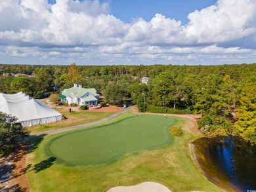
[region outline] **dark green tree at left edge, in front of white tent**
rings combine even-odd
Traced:
[[[18,144],[17,139],[29,135],[28,130],[16,121],[16,117],[0,111],[0,156],[12,153]]]

